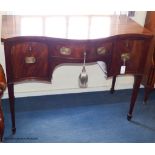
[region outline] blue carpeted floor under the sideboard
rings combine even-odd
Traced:
[[[131,90],[16,98],[16,134],[3,99],[4,143],[153,143],[155,93],[143,105],[140,90],[127,121]]]

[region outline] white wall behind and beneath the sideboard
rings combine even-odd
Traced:
[[[134,20],[141,25],[144,24],[146,12],[136,12]],[[0,12],[1,25],[2,12]],[[1,31],[1,30],[0,30]],[[0,44],[0,63],[5,70],[4,49]],[[105,79],[104,74],[97,64],[89,64],[86,69],[89,76],[88,88],[80,89],[78,86],[78,76],[81,72],[80,65],[64,65],[55,69],[52,84],[45,83],[24,83],[15,85],[15,96],[37,96],[46,94],[75,93],[109,90],[111,79]],[[133,86],[133,76],[124,76],[117,78],[116,89],[127,89]],[[3,98],[8,97],[7,90]]]

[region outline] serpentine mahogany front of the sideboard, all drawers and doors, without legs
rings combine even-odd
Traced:
[[[143,74],[148,50],[148,38],[143,36],[116,36],[93,40],[23,37],[12,38],[6,44],[13,67],[14,81],[26,78],[48,79],[55,66],[62,63],[86,63],[104,61],[108,76]],[[10,71],[9,70],[9,71]],[[10,71],[10,74],[12,71]]]

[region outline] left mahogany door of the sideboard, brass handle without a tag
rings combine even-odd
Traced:
[[[11,61],[14,82],[26,79],[46,80],[48,47],[40,42],[22,42],[12,46]]]

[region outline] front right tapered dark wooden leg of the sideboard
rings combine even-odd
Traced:
[[[130,101],[130,108],[129,108],[129,112],[128,112],[128,115],[127,115],[127,119],[129,121],[132,118],[132,112],[133,112],[135,102],[136,102],[136,99],[137,99],[137,95],[138,95],[141,80],[142,80],[142,76],[140,76],[140,75],[135,76],[132,95],[131,95],[131,101]]]

